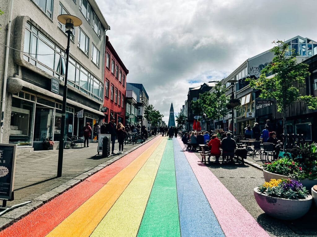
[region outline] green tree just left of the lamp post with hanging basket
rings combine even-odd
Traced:
[[[229,112],[227,108],[229,96],[226,96],[226,91],[228,89],[221,81],[217,82],[215,85],[215,91],[211,93],[212,97],[212,114],[211,118],[220,120],[221,117],[226,116]]]

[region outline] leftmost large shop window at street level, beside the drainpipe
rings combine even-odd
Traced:
[[[34,102],[12,97],[9,143],[31,146]]]

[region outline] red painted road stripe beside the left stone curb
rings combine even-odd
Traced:
[[[152,139],[140,148],[125,155],[120,160],[115,161],[85,181],[44,204],[28,216],[1,231],[0,237],[40,237],[47,235],[158,139],[159,137]]]

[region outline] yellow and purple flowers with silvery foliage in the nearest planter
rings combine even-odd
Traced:
[[[258,186],[258,191],[271,197],[282,197],[292,200],[306,198],[306,187],[293,179],[271,179]]]

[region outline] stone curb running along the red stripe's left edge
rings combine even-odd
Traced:
[[[159,136],[159,135],[157,135],[157,136]],[[26,204],[26,205],[21,206],[21,207],[17,207],[13,210],[6,212],[5,214],[3,214],[0,217],[0,231],[9,227],[14,222],[20,220],[21,218],[28,215],[32,211],[36,210],[37,208],[39,208],[43,204],[49,202],[53,198],[61,195],[63,192],[67,191],[68,189],[81,183],[83,180],[87,179],[88,177],[92,176],[93,174],[97,173],[98,171],[102,170],[103,168],[111,165],[113,162],[119,160],[121,157],[129,154],[130,152],[134,151],[135,149],[138,149],[140,146],[148,143],[149,141],[151,141],[152,139],[154,139],[157,136],[148,138],[144,143],[140,143],[139,145],[129,149],[125,153],[117,155],[116,157],[113,157],[112,159],[110,159],[110,160],[108,160],[100,165],[97,165],[96,167],[92,168],[91,170],[88,170],[88,171],[74,177],[73,179],[68,180],[64,184],[61,184],[61,185],[53,188],[52,190],[50,190],[50,191],[48,191],[48,192],[46,192],[38,197],[33,198],[31,203]]]

